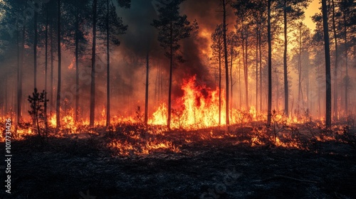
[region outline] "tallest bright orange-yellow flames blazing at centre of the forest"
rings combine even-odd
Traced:
[[[196,77],[184,80],[183,97],[177,99],[172,109],[172,128],[199,129],[219,125],[219,88],[211,90],[205,85],[198,85]],[[224,90],[221,90],[221,124],[226,124]],[[167,106],[161,104],[152,114],[150,124],[167,124]]]

